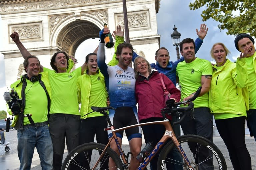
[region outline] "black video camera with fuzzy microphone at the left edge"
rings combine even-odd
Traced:
[[[12,88],[11,92],[4,92],[4,99],[8,103],[9,109],[11,109],[13,115],[21,113],[22,100],[18,93]]]

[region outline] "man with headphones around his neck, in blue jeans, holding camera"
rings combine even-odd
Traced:
[[[28,56],[24,62],[27,74],[11,85],[22,99],[21,113],[14,117],[12,126],[17,131],[20,169],[30,169],[35,147],[40,157],[42,170],[53,170],[53,145],[48,127],[50,89],[47,73],[39,74],[40,62]],[[12,113],[9,113],[12,114]],[[26,114],[32,114],[29,121]]]

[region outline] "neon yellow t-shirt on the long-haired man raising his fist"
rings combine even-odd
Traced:
[[[48,72],[51,86],[51,113],[65,113],[80,115],[76,83],[81,76],[81,67],[71,73],[56,73],[44,67],[44,72]]]

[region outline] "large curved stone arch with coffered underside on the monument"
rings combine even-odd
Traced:
[[[75,15],[67,16],[50,32],[51,46],[74,56],[83,41],[99,37],[101,28],[103,22],[90,15],[81,14],[80,19]]]

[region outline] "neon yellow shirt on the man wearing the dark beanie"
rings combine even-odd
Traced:
[[[253,56],[245,58],[247,65],[247,74],[248,74],[248,89],[249,89],[249,108],[256,109],[256,76],[253,66]]]

